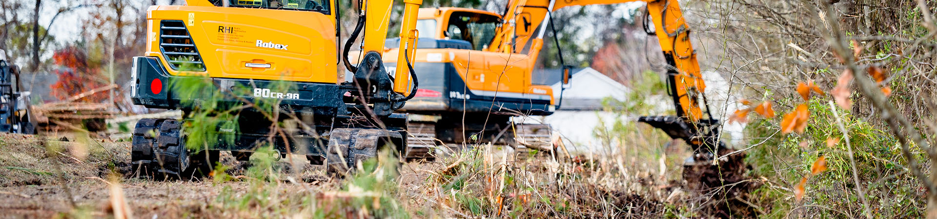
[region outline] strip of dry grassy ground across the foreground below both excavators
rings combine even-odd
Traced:
[[[84,159],[73,154],[88,143],[98,149],[87,147]],[[701,216],[700,208],[711,208],[679,189],[682,158],[676,157],[685,152],[677,147],[626,155],[656,145],[630,143],[625,146],[638,148],[572,158],[480,146],[439,162],[405,164],[397,177],[388,171],[393,162],[368,163],[370,171],[344,180],[289,159],[255,159],[250,168],[223,159],[228,168],[214,179],[190,181],[130,178],[127,142],[38,145],[35,137],[0,136],[0,165],[10,167],[0,169],[0,210],[7,216],[660,218]],[[117,180],[120,189],[102,179]],[[113,207],[116,195],[126,207]]]

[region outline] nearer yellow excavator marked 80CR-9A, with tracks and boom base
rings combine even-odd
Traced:
[[[382,63],[389,58],[382,51],[393,0],[357,5],[358,25],[346,45],[364,35],[364,61],[358,66],[339,65],[341,10],[335,0],[186,2],[148,9],[146,50],[133,59],[133,102],[184,112],[183,120],[136,124],[131,159],[138,175],[185,176],[215,164],[219,151],[246,160],[267,145],[282,156],[306,155],[312,164],[342,173],[383,147],[396,152],[406,147],[407,117],[394,110],[416,94],[417,79],[409,65],[397,66],[392,76]],[[409,64],[423,1],[404,3],[403,40],[395,46],[405,52],[389,60]],[[339,81],[339,67],[353,72],[353,79]],[[213,90],[182,87],[192,77],[208,78]],[[218,91],[224,94],[218,106],[243,109],[230,112],[236,125],[214,131],[218,139],[234,140],[186,147],[189,115]],[[260,100],[275,104],[258,107],[254,103]]]

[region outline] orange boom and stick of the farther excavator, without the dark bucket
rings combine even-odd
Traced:
[[[550,13],[563,7],[609,5],[628,2],[647,2],[647,12],[654,23],[658,41],[667,60],[668,80],[677,108],[677,116],[688,122],[703,119],[699,99],[706,90],[699,64],[690,41],[690,27],[683,18],[677,0],[512,0],[498,29],[495,45],[489,51],[522,52],[531,42],[527,53],[536,59],[543,46],[543,34],[550,22]],[[535,28],[538,28],[535,31]]]

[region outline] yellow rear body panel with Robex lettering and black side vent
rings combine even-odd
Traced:
[[[199,3],[205,0],[190,0]],[[191,4],[196,5],[196,4]],[[159,47],[162,20],[186,23],[212,78],[290,80],[336,83],[337,49],[335,14],[315,11],[245,7],[154,6],[147,14],[146,56],[162,56]],[[286,45],[283,49],[264,47]],[[269,64],[251,67],[247,64]],[[171,74],[181,74],[164,62]]]

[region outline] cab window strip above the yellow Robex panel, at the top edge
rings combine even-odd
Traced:
[[[329,14],[332,10],[329,0],[210,0],[216,7],[223,7],[228,1],[230,7],[255,7],[282,10],[309,10]]]

